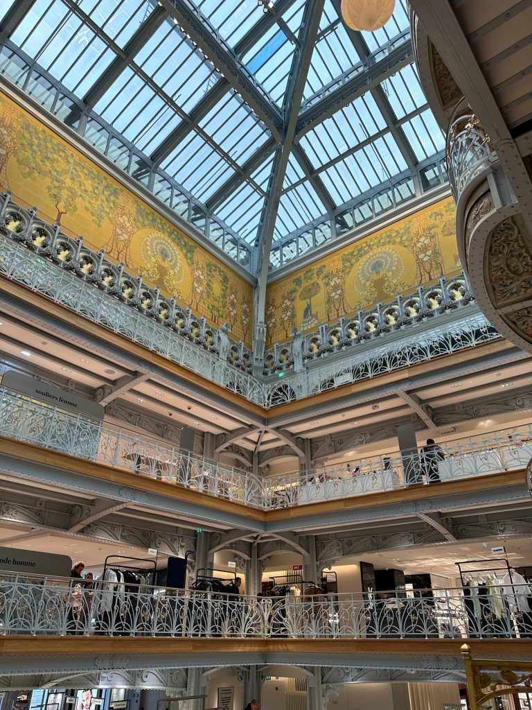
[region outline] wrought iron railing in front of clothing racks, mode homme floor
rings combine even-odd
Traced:
[[[528,585],[254,597],[0,573],[0,634],[530,638]],[[528,608],[528,606],[527,606]]]

